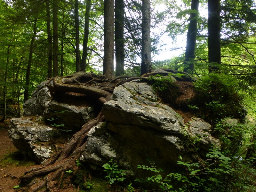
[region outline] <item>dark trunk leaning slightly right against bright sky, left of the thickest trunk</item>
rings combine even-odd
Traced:
[[[188,25],[187,45],[185,52],[185,61],[183,71],[186,73],[193,73],[194,59],[196,50],[196,35],[197,35],[197,16],[198,16],[199,0],[191,0],[191,10],[196,13],[190,14],[190,21]]]

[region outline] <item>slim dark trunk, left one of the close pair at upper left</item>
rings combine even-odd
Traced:
[[[51,14],[50,1],[46,1],[46,16],[47,16],[47,39],[48,39],[48,71],[47,77],[52,77],[52,29],[51,29]]]

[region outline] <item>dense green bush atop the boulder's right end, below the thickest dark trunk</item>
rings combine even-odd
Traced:
[[[204,112],[210,122],[225,117],[243,120],[246,110],[241,104],[241,98],[235,91],[234,77],[224,73],[211,73],[194,83],[197,91],[196,102],[205,108]]]

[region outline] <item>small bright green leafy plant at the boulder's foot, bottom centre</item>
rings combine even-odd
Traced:
[[[108,180],[109,184],[113,184],[116,181],[120,182],[125,180],[125,170],[119,169],[118,165],[113,163],[113,159],[109,161],[109,164],[106,163],[102,167],[104,167],[104,171],[107,172],[107,176],[105,178]]]

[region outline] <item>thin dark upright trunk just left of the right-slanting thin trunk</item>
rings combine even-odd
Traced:
[[[81,70],[80,66],[80,41],[79,41],[79,1],[75,0],[75,29],[76,29],[76,72]]]

